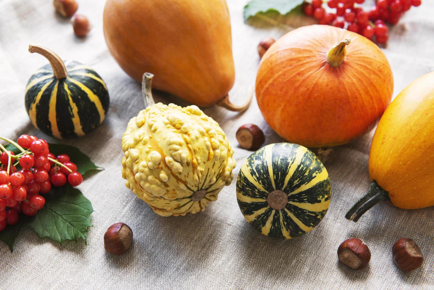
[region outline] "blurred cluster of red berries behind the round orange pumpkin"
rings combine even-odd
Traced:
[[[377,43],[386,43],[389,39],[386,22],[396,24],[402,14],[411,6],[421,5],[421,0],[377,0],[369,11],[356,7],[365,0],[328,0],[324,1],[335,13],[326,12],[323,0],[312,0],[303,3],[303,10],[307,16],[319,20],[319,24],[333,25],[359,33],[372,40],[375,36]],[[327,10],[330,10],[327,8]]]

